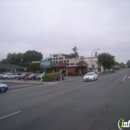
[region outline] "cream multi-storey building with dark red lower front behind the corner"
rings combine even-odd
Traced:
[[[66,58],[63,54],[51,54],[47,60],[52,60],[51,72],[60,72],[66,69],[66,74],[81,75],[87,72],[87,63],[83,56]]]

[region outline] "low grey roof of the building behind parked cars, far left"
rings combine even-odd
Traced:
[[[24,67],[14,64],[0,64],[0,69],[24,69]]]

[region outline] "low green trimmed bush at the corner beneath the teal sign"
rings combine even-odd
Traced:
[[[43,82],[51,82],[54,77],[56,78],[56,81],[59,80],[60,79],[60,73],[48,73],[48,74],[45,74],[42,81]]]

